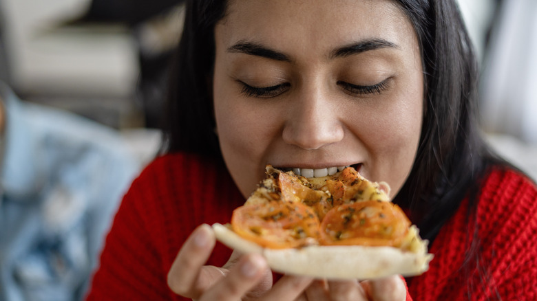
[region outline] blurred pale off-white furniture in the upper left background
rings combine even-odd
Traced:
[[[126,97],[138,77],[136,45],[120,26],[63,28],[85,0],[1,0],[12,85],[24,94]]]

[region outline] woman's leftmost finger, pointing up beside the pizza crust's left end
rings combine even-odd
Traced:
[[[215,236],[211,226],[200,225],[192,232],[168,272],[168,286],[174,293],[187,298],[198,298],[200,287],[207,287],[206,282],[213,280],[208,276],[217,272],[206,271],[200,275],[214,245]]]

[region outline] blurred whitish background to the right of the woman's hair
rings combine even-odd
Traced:
[[[481,63],[489,143],[537,179],[537,1],[459,0]]]

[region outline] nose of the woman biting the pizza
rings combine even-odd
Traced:
[[[287,110],[284,142],[315,150],[343,140],[344,129],[337,104],[318,89],[300,93]]]

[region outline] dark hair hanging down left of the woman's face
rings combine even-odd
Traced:
[[[173,60],[161,153],[186,151],[221,158],[213,118],[214,27],[223,0],[187,0],[185,25]]]

